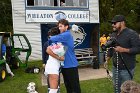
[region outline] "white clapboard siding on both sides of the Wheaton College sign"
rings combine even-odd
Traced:
[[[27,36],[32,46],[30,60],[42,59],[41,31],[39,23],[25,23],[25,0],[11,0],[14,33]],[[90,23],[99,23],[98,0],[89,0]]]

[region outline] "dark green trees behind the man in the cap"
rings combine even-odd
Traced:
[[[112,31],[108,21],[117,14],[124,15],[127,20],[127,27],[140,33],[140,0],[99,0],[99,5],[101,34],[104,31],[106,33]]]

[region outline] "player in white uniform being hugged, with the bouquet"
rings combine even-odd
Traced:
[[[58,34],[58,29],[56,27],[51,29],[51,35]],[[45,65],[44,74],[48,76],[50,91],[49,93],[57,93],[58,91],[58,81],[59,81],[59,69],[60,65],[63,63],[60,60],[64,60],[64,46],[60,43],[52,43],[48,46],[47,50],[50,49],[54,54],[58,55],[58,59],[49,55],[47,63]]]

